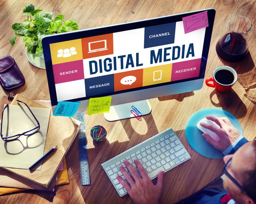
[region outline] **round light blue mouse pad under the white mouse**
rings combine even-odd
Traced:
[[[206,118],[207,115],[212,115],[215,117],[227,117],[231,124],[238,129],[241,135],[243,135],[243,130],[239,121],[231,115],[229,112],[218,109],[218,108],[205,108],[198,112],[195,112],[186,124],[185,134],[189,145],[199,154],[213,159],[223,158],[224,155],[221,151],[215,149],[210,145],[202,136],[203,132],[198,129],[197,124],[201,119]]]

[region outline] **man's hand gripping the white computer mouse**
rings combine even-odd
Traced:
[[[230,147],[230,145],[233,144],[237,140],[237,138],[239,138],[239,131],[231,124],[228,118],[217,118],[215,116],[209,115],[207,115],[206,118],[207,120],[211,120],[215,122],[218,126],[220,126],[220,128],[217,128],[215,126],[205,123],[200,124],[204,128],[215,132],[219,136],[219,141],[215,141],[208,134],[203,134],[203,137],[206,139],[206,141],[209,142],[209,144],[211,144],[213,147],[215,147],[215,149],[223,152],[225,149]]]

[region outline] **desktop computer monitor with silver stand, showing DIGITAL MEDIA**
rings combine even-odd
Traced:
[[[147,114],[144,100],[201,89],[214,18],[206,9],[44,37],[52,108],[81,101],[84,111],[112,96],[111,121],[133,116],[132,104]]]

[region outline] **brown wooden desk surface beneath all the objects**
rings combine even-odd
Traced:
[[[256,103],[256,35],[254,34],[256,4],[254,0],[0,0],[0,57],[10,54],[15,58],[26,79],[26,84],[14,91],[32,100],[49,100],[46,71],[30,64],[25,55],[24,43],[17,38],[12,47],[9,39],[13,35],[13,23],[22,22],[23,7],[32,3],[36,9],[61,13],[64,18],[78,22],[80,29],[106,26],[116,23],[143,20],[177,14],[186,11],[214,8],[215,24],[212,33],[205,78],[212,77],[212,71],[221,65],[236,69],[238,82],[233,90],[218,93],[203,86],[199,91],[149,100],[152,112],[143,116],[143,121],[126,119],[116,122],[105,121],[102,114],[86,115],[86,133],[100,124],[108,131],[107,140],[93,143],[88,136],[90,186],[81,186],[78,141],[74,141],[67,153],[67,167],[70,184],[56,187],[55,193],[29,190],[24,193],[4,195],[0,203],[131,203],[126,195],[118,196],[100,164],[119,153],[172,127],[184,144],[191,159],[164,175],[162,203],[175,203],[195,193],[221,175],[221,159],[208,159],[196,153],[187,143],[185,126],[189,117],[206,107],[218,107],[233,114],[243,127],[244,136],[255,137]],[[229,17],[244,14],[253,23],[249,33],[249,51],[241,63],[227,63],[218,58],[215,44],[224,32]],[[0,89],[0,97],[9,95]]]

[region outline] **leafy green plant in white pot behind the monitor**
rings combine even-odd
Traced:
[[[26,16],[24,22],[12,25],[15,35],[10,39],[11,45],[15,45],[16,37],[22,36],[29,62],[42,69],[45,69],[42,38],[47,35],[79,29],[75,21],[64,21],[62,14],[58,14],[52,19],[52,14],[51,11],[42,13],[42,10],[35,9],[32,4],[28,4],[23,9],[22,15]]]

